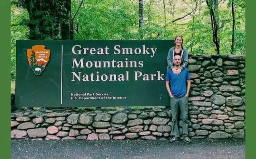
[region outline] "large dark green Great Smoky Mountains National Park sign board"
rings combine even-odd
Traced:
[[[16,106],[166,106],[173,40],[18,40]]]

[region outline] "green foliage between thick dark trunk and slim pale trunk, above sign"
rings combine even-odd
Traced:
[[[72,4],[72,14],[80,5],[80,1]],[[138,16],[127,0],[90,0],[79,9],[73,24],[78,25],[75,31],[77,40],[112,40],[137,39]]]

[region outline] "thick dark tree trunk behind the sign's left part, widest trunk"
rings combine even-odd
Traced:
[[[71,39],[71,0],[25,0],[21,1],[29,14],[30,40]],[[65,11],[65,8],[67,9]],[[70,14],[70,15],[69,15]]]

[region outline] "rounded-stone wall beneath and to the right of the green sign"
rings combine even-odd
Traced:
[[[244,139],[245,56],[189,55],[188,69],[189,136]],[[11,138],[165,140],[172,130],[169,108],[16,110],[11,112]]]

